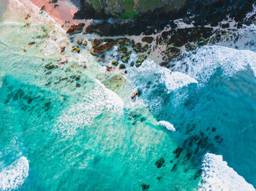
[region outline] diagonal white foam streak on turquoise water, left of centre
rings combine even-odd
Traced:
[[[59,117],[55,124],[56,133],[65,136],[74,135],[77,130],[90,125],[95,117],[102,114],[103,110],[122,114],[124,102],[113,91],[108,90],[99,80],[95,79],[94,90],[86,95],[84,101],[75,104]]]

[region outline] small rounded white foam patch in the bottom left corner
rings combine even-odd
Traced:
[[[20,157],[0,172],[0,190],[18,189],[29,176],[29,161]]]

